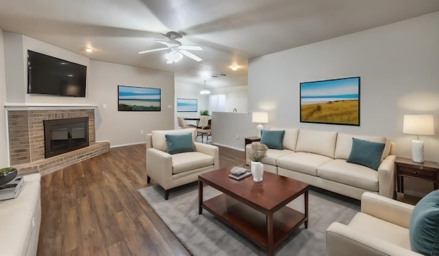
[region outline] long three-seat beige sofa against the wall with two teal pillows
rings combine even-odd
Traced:
[[[358,200],[365,191],[388,198],[394,196],[395,144],[385,137],[297,128],[270,130],[285,130],[285,135],[283,150],[268,150],[262,161],[265,171]],[[385,143],[377,171],[364,165],[346,162],[351,152],[353,137]],[[250,163],[251,151],[249,144],[246,146],[247,164]]]

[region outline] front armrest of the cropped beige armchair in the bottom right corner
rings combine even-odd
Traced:
[[[333,222],[326,232],[327,256],[420,254],[371,235],[361,233],[344,224]]]

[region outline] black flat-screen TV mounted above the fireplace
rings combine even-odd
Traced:
[[[27,93],[85,97],[87,67],[27,50]]]

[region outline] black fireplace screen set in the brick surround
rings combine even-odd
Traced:
[[[88,146],[88,117],[43,122],[45,158]]]

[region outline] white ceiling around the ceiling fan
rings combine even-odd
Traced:
[[[439,0],[0,0],[0,28],[213,89],[247,85],[249,58],[437,11]],[[167,51],[137,54],[163,47],[154,39],[169,31],[201,45],[193,53],[203,60],[168,65]]]

